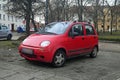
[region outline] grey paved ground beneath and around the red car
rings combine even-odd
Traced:
[[[120,44],[100,42],[98,57],[78,57],[61,68],[29,62],[17,49],[0,49],[0,80],[120,80]]]

